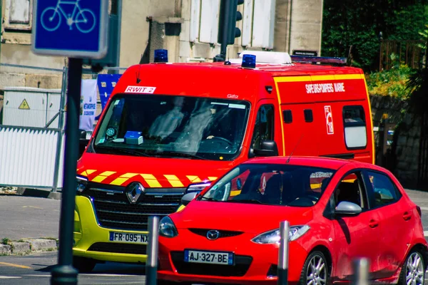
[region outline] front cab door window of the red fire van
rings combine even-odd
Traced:
[[[262,105],[257,113],[251,147],[260,149],[263,140],[273,140],[273,105]]]

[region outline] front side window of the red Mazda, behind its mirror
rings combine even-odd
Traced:
[[[360,172],[352,172],[342,177],[334,192],[335,207],[340,202],[352,202],[363,210],[368,209],[367,195],[365,192],[362,175]]]

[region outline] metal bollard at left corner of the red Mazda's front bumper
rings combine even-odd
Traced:
[[[158,236],[159,218],[148,217],[148,244],[146,261],[146,285],[156,285],[156,271],[158,270]]]

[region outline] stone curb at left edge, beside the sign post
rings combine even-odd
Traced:
[[[53,252],[58,249],[58,239],[21,239],[0,244],[1,255],[29,254],[33,252]]]

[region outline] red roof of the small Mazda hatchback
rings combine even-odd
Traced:
[[[287,160],[290,158],[290,161]],[[342,160],[339,158],[331,157],[309,157],[309,156],[293,156],[293,157],[257,157],[247,160],[243,164],[288,164],[288,165],[305,165],[310,167],[329,168],[331,170],[338,170],[346,164],[366,165],[366,163],[356,162],[353,160]],[[370,164],[367,164],[370,165]]]

